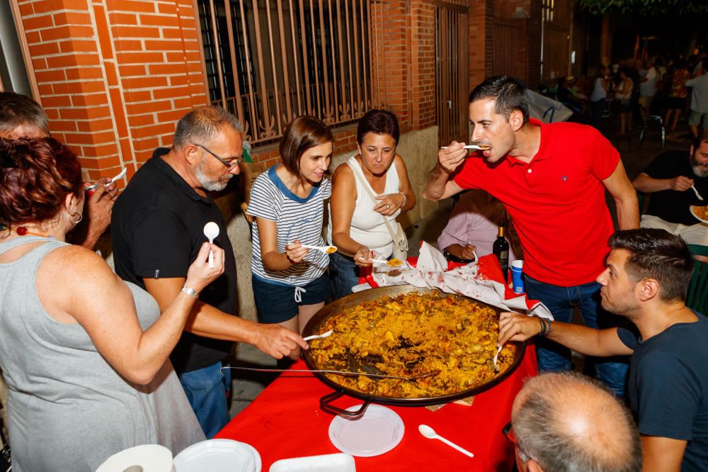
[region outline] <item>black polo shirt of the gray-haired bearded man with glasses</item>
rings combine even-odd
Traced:
[[[208,196],[196,193],[161,155],[158,148],[130,179],[113,206],[110,230],[115,273],[145,288],[143,278],[186,277],[203,242],[204,225],[219,225],[215,244],[224,249],[224,274],[202,290],[199,299],[236,313],[236,259],[224,215]],[[170,359],[178,373],[223,360],[232,342],[183,332]]]

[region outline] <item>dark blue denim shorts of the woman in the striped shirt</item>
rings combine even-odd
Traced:
[[[322,274],[302,287],[276,285],[251,276],[258,321],[281,323],[297,316],[300,305],[316,305],[329,300],[329,277]],[[296,293],[297,289],[297,293]],[[296,300],[297,297],[297,300]],[[299,301],[298,301],[299,300]]]

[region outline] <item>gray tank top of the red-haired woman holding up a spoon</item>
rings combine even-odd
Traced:
[[[0,254],[37,241],[45,244],[0,264],[0,369],[9,390],[13,471],[94,471],[112,454],[139,444],[161,444],[176,455],[204,440],[169,361],[149,385],[130,383],[97,352],[81,325],[59,322],[42,307],[38,267],[67,243],[20,237],[0,242]],[[159,306],[146,291],[128,286],[146,330],[159,318]]]

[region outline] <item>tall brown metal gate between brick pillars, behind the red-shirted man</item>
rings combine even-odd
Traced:
[[[469,139],[467,7],[435,2],[435,106],[438,138]]]

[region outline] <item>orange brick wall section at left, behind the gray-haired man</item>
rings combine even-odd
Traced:
[[[19,2],[50,130],[87,176],[128,178],[206,101],[191,0]]]

